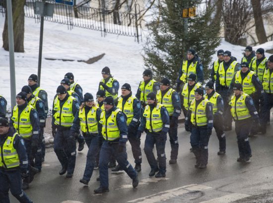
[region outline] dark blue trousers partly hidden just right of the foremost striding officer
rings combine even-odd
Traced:
[[[140,149],[140,138],[136,138],[137,127],[132,130],[132,132],[128,132],[128,141],[131,144],[133,156],[135,158],[135,163],[140,165],[142,162],[142,154]]]

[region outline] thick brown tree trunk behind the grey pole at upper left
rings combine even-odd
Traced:
[[[14,51],[24,52],[24,5],[26,0],[12,0],[13,40]],[[5,24],[2,33],[3,48],[8,51],[7,12],[5,13]]]

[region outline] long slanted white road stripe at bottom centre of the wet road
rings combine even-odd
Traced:
[[[132,187],[132,186],[131,186]],[[175,198],[179,195],[183,195],[186,193],[189,193],[190,191],[196,191],[196,190],[205,190],[205,189],[211,189],[211,187],[205,186],[205,185],[197,185],[197,184],[191,184],[186,185],[179,188],[174,188],[171,190],[166,190],[160,193],[156,193],[153,195],[149,195],[143,198],[138,198],[135,200],[129,201],[129,203],[157,203],[162,201],[167,201],[171,198]]]

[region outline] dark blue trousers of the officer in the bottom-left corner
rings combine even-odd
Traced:
[[[20,203],[32,203],[22,190],[22,178],[19,169],[7,171],[0,169],[0,203],[9,203],[8,191]]]

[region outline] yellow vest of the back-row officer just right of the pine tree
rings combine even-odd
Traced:
[[[228,67],[228,69],[226,70],[226,72],[225,72],[223,62],[220,63],[219,70],[218,70],[220,85],[225,86],[225,87],[230,86],[232,78],[235,74],[235,66],[237,63],[238,63],[237,61],[233,61],[230,64],[230,66]]]

